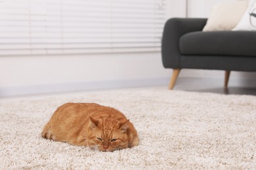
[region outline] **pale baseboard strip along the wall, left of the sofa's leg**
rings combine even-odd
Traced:
[[[61,84],[39,84],[33,86],[0,87],[0,97],[36,95],[45,93],[78,92],[87,90],[107,90],[114,88],[134,88],[142,86],[167,86],[169,77],[133,80],[102,80],[94,82],[70,82]]]

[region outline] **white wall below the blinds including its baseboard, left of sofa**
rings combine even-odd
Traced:
[[[0,58],[0,97],[167,84],[160,52]]]

